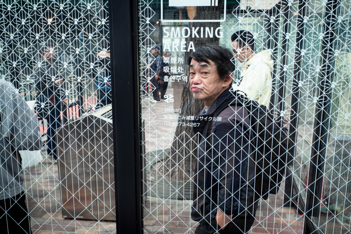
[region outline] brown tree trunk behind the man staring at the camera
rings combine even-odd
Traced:
[[[221,6],[221,1],[219,1]],[[219,19],[221,7],[197,7],[196,8],[196,19]],[[219,22],[191,22],[189,28],[192,27],[213,27],[213,32],[218,28]],[[199,29],[199,30],[200,30]],[[205,32],[205,29],[204,29]],[[219,38],[213,35],[212,38],[192,38],[188,37],[187,44],[193,41],[195,48],[204,46],[206,44],[219,44]],[[189,67],[187,61],[191,52],[186,53],[186,66],[185,75],[190,77]],[[199,115],[200,111],[204,108],[204,103],[200,100],[193,98],[190,90],[190,82],[184,84],[183,92],[181,94],[180,102],[180,116],[196,116]],[[190,123],[190,120],[179,120],[178,122]],[[177,181],[188,181],[194,174],[194,167],[197,156],[197,137],[194,137],[194,131],[189,126],[177,126],[174,140],[172,142],[170,150],[170,161],[164,162],[165,165],[169,165],[171,172],[171,178]]]

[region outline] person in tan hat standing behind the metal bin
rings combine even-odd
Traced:
[[[97,107],[112,103],[110,49],[107,43],[102,43],[102,49],[97,54],[95,61],[95,85],[97,90]]]

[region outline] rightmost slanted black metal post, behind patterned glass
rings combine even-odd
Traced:
[[[313,133],[313,146],[311,150],[309,179],[307,184],[306,197],[306,218],[318,217],[321,199],[321,188],[323,188],[323,171],[325,164],[325,153],[329,129],[329,112],[331,106],[331,83],[334,79],[332,69],[333,40],[336,25],[336,11],[338,0],[329,0],[326,5],[324,21],[324,37],[322,40],[322,69],[318,74],[321,80],[320,88],[323,90],[319,94]]]

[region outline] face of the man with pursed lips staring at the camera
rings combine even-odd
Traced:
[[[190,89],[195,99],[202,100],[209,106],[221,94],[227,84],[222,81],[217,72],[217,66],[212,60],[209,63],[191,60]]]

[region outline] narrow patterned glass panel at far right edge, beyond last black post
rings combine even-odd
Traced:
[[[350,230],[350,155],[351,155],[351,97],[350,97],[350,7],[342,1],[337,8],[333,42],[333,81],[331,82],[330,131],[325,156],[324,187],[318,227],[325,233]],[[322,214],[335,212],[333,217]]]

